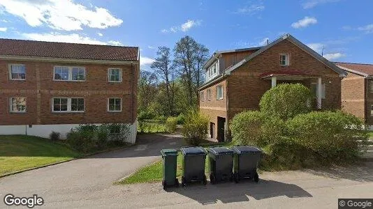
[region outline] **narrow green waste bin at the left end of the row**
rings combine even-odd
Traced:
[[[177,150],[175,149],[163,149],[161,150],[163,159],[163,189],[168,186],[179,186],[179,180],[176,178],[176,166],[177,166]]]

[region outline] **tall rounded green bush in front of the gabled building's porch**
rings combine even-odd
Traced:
[[[263,94],[259,107],[263,114],[287,120],[312,111],[314,99],[302,84],[279,84]]]

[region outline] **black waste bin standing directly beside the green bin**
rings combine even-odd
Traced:
[[[183,147],[182,152],[182,186],[193,181],[206,185],[205,160],[206,151],[202,147]]]

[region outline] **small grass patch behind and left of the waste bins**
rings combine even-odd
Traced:
[[[206,156],[207,158],[207,156]],[[205,173],[206,176],[208,172],[208,160],[205,160]],[[154,162],[153,164],[149,164],[146,167],[136,171],[128,178],[124,178],[121,180],[119,184],[134,184],[134,183],[149,183],[149,182],[160,182],[162,180],[163,170],[162,170],[162,160]],[[182,176],[182,155],[179,152],[177,156],[177,169],[176,169],[176,176],[181,180]],[[181,181],[180,181],[181,182]]]

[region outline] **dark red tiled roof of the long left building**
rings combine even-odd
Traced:
[[[138,47],[0,38],[0,55],[106,61],[138,61]]]

